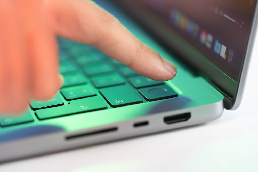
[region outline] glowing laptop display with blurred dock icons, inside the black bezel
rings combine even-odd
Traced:
[[[141,2],[238,82],[255,7],[254,0]]]

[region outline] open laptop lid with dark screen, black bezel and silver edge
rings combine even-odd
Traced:
[[[256,0],[114,0],[224,95],[241,102],[257,25]]]

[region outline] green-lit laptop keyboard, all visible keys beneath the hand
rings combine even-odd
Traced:
[[[65,80],[52,99],[29,102],[39,120],[177,96],[166,83],[141,76],[92,46],[60,37],[58,42],[59,70]],[[1,116],[0,126],[33,122],[34,114],[26,110],[17,117]]]

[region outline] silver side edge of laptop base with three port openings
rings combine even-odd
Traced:
[[[0,163],[201,124],[218,119],[223,111],[222,100],[74,132],[57,131],[6,141],[0,145]]]

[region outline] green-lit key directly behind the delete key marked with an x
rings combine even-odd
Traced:
[[[118,73],[108,73],[91,77],[91,81],[97,88],[124,84],[125,80]]]

